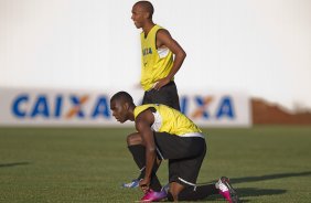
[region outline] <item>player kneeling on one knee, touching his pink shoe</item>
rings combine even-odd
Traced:
[[[182,113],[165,105],[136,106],[126,92],[115,94],[110,99],[112,116],[119,121],[135,121],[137,132],[128,137],[130,147],[138,147],[133,159],[138,167],[146,165],[143,179],[139,182],[144,195],[141,201],[197,201],[212,194],[222,194],[228,202],[238,202],[235,190],[223,177],[215,184],[196,185],[196,179],[206,153],[204,135]],[[169,160],[169,193],[154,191],[152,179],[157,178],[153,165],[157,157]]]

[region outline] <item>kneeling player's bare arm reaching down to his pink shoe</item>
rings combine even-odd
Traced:
[[[136,129],[141,136],[142,143],[146,147],[146,174],[139,183],[144,193],[149,190],[151,172],[154,164],[154,160],[157,158],[153,132],[150,127],[153,121],[154,117],[151,110],[149,109],[142,111],[136,119]]]

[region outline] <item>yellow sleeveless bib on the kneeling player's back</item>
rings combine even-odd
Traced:
[[[137,106],[133,110],[135,119],[148,108],[156,109],[156,113],[152,113],[154,116],[154,122],[151,126],[153,131],[184,137],[204,137],[201,129],[191,119],[165,105],[148,104]]]

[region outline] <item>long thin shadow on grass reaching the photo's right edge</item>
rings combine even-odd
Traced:
[[[232,183],[256,182],[256,181],[266,181],[266,180],[283,179],[291,177],[305,177],[305,175],[311,175],[311,171],[299,172],[299,173],[266,174],[260,177],[230,178],[230,182]]]

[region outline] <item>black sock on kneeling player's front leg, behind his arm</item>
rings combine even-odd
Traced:
[[[141,145],[129,146],[128,148],[138,168],[140,170],[142,169],[138,179],[143,179],[144,178],[143,168],[146,167],[146,149]],[[162,189],[161,183],[156,174],[158,169],[159,169],[159,164],[157,163],[156,160],[152,169],[151,181],[150,181],[150,188],[154,191],[160,191]]]

